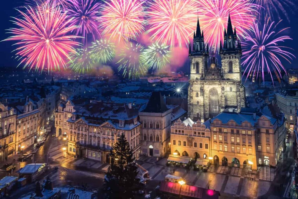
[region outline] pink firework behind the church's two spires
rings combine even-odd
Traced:
[[[214,52],[219,50],[229,14],[238,36],[243,36],[256,19],[254,14],[257,5],[250,3],[249,0],[198,0],[197,7],[201,30],[204,31],[204,41]]]

